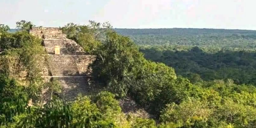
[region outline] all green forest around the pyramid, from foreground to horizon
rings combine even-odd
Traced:
[[[254,50],[240,51],[240,48],[253,46],[243,42],[253,42],[254,31],[230,30],[236,34],[230,35],[222,32],[226,30],[184,29],[170,34],[169,30],[161,29],[161,34],[153,31],[150,33],[157,36],[148,38],[149,35],[140,30],[139,34],[133,33],[134,37],[142,37],[136,40],[114,32],[109,23],[68,23],[60,27],[63,33],[96,56],[91,67],[94,80],[101,83],[101,90],[79,96],[73,102],[62,101],[54,95],[51,101],[41,104],[42,90],[50,87],[58,92],[58,83],[42,80],[40,67],[44,60],[38,55],[46,53],[41,40],[28,33],[31,27],[33,23],[21,20],[17,22],[19,30],[9,33],[8,26],[0,25],[0,128],[256,126]],[[211,37],[215,31],[219,36]],[[127,35],[124,32],[119,33]],[[187,35],[181,44],[163,45],[165,43],[159,41],[166,35],[169,41],[169,37],[178,41],[182,37],[179,33]],[[201,33],[208,36],[198,36]],[[195,44],[191,45],[187,39],[194,40]],[[203,41],[197,42],[198,39]],[[222,39],[227,41],[221,42]],[[230,44],[234,47],[228,47]],[[24,70],[28,73],[23,80],[18,79],[18,74]],[[124,114],[118,100],[127,97],[155,118]]]

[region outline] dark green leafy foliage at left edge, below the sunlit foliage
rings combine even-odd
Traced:
[[[27,106],[28,94],[26,88],[18,86],[14,79],[0,76],[0,126],[14,122],[18,114],[22,114]]]

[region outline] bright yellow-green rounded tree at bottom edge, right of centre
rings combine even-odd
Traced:
[[[162,111],[161,121],[165,123],[175,123],[179,126],[190,126],[195,122],[206,122],[213,110],[209,109],[206,102],[189,98],[180,105],[168,104]]]

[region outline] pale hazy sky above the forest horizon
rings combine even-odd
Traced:
[[[114,28],[256,30],[255,0],[0,0],[0,24],[59,27],[88,20]]]

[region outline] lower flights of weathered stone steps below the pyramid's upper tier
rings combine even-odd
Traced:
[[[83,55],[48,55],[48,62],[52,77],[54,77],[61,86],[59,96],[66,101],[73,100],[78,94],[86,95],[88,90],[88,81],[86,75],[80,74],[76,61]]]

